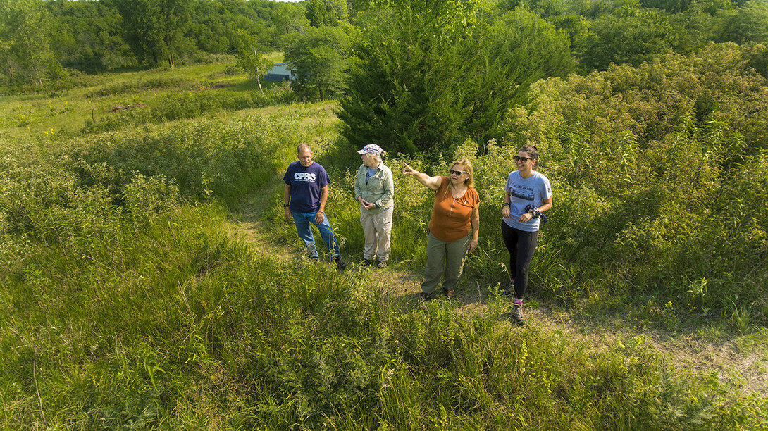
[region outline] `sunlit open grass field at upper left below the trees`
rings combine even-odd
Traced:
[[[273,53],[272,58],[280,58]],[[234,70],[233,73],[227,73]],[[146,123],[260,108],[285,98],[282,85],[256,80],[231,64],[88,75],[90,85],[51,94],[0,98],[0,127],[12,137],[115,131]]]

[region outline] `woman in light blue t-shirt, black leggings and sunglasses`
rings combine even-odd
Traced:
[[[544,211],[552,207],[552,187],[536,171],[538,148],[525,145],[515,156],[518,170],[511,171],[504,187],[507,192],[502,207],[502,238],[509,250],[509,286],[505,293],[514,295],[512,318],[523,324],[522,305],[528,287],[528,266],[538,242],[538,229]]]

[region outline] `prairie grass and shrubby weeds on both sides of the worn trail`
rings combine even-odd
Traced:
[[[0,421],[19,429],[766,426],[764,393],[738,378],[676,369],[644,337],[595,348],[535,318],[515,329],[497,290],[504,178],[516,147],[535,142],[555,207],[531,268],[529,307],[623,320],[640,333],[739,338],[763,352],[764,373],[768,85],[748,60],[718,45],[538,81],[532,103],[508,115],[503,141],[457,142],[437,161],[392,154],[393,171],[401,160],[434,174],[453,156],[475,161],[481,247],[459,295],[476,290],[485,304],[476,311],[394,294],[386,272],[339,273],[300,258],[273,187],[300,141],[313,142],[333,178],[328,214],[344,254],[362,249],[351,187],[359,158],[339,138],[333,102],[291,104],[280,88],[257,101],[253,82],[223,75],[224,65],[100,75],[98,85],[55,98],[6,96]],[[206,80],[235,84],[189,91]],[[152,114],[91,118],[94,104],[126,94]],[[12,120],[19,105],[62,99],[70,108]],[[253,194],[267,194],[257,234],[290,244],[295,258],[228,234]],[[429,194],[396,174],[399,264],[386,271],[418,274],[430,207]]]

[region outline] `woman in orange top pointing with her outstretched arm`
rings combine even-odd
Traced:
[[[424,267],[422,300],[429,299],[442,276],[442,288],[455,297],[467,254],[478,247],[480,197],[475,187],[472,163],[465,158],[453,162],[450,177],[430,177],[403,163],[402,173],[435,191],[432,218],[429,219],[427,264]]]

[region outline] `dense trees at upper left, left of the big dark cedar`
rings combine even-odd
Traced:
[[[303,4],[266,0],[2,0],[2,84],[41,85],[57,68],[94,73],[235,54],[239,31],[279,50],[308,26]]]

